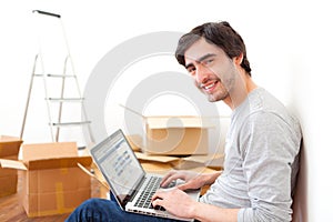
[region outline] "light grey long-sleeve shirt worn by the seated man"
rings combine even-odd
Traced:
[[[284,105],[262,88],[231,117],[224,171],[201,198],[240,208],[238,221],[291,221],[299,171],[301,128]]]

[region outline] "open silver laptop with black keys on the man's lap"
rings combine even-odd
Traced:
[[[152,206],[151,196],[161,189],[160,182],[163,176],[143,170],[121,129],[93,147],[90,152],[123,211],[193,221],[174,216],[161,206],[155,209]],[[181,182],[181,180],[174,181],[170,186]],[[200,190],[191,190],[186,193],[198,200]]]

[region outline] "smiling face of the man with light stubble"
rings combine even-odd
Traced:
[[[230,99],[234,87],[235,67],[225,52],[203,38],[185,51],[185,68],[195,85],[215,102]]]

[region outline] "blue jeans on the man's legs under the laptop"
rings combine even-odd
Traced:
[[[115,199],[110,200],[90,199],[79,205],[65,220],[65,222],[111,222],[111,221],[147,221],[147,222],[175,222],[175,220],[163,219],[137,213],[129,213],[120,209]]]

